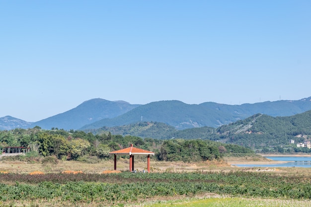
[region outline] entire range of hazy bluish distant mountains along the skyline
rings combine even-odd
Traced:
[[[181,101],[157,101],[145,105],[125,101],[91,99],[61,114],[29,123],[10,116],[0,118],[0,130],[14,128],[86,130],[123,126],[138,122],[162,122],[178,130],[213,127],[243,120],[254,114],[272,117],[292,116],[311,110],[311,97],[301,100],[267,101],[227,105],[214,102],[186,104]]]

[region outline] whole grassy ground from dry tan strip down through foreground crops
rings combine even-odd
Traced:
[[[238,168],[231,162],[271,162],[226,158],[226,162],[155,162],[152,173],[130,173],[127,159],[97,163],[0,160],[1,207],[304,207],[311,206],[308,168]],[[144,160],[135,168],[143,170]],[[43,174],[29,175],[39,171]],[[62,173],[63,172],[63,173]],[[78,172],[64,173],[64,172]]]

